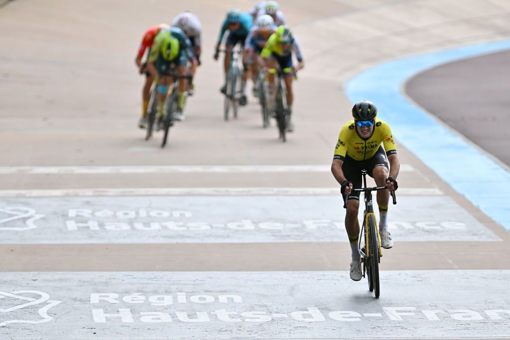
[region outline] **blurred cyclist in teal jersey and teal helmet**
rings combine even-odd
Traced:
[[[218,42],[216,44],[216,51],[214,54],[214,60],[218,60],[219,58],[219,50],[221,42],[223,41],[223,36],[225,35],[225,32],[228,30],[228,36],[226,38],[225,43],[225,49],[227,51],[232,51],[234,49],[234,46],[238,43],[241,44],[241,46],[244,46],[244,42],[246,40],[246,37],[248,37],[248,34],[250,32],[251,23],[253,19],[251,15],[248,13],[243,13],[239,11],[238,9],[231,9],[227,12],[226,18],[223,21],[223,24],[221,25],[221,31],[220,35],[218,37]],[[248,65],[247,65],[247,59],[248,59],[248,53],[247,51],[243,52],[243,82],[242,82],[242,96],[239,100],[239,103],[241,105],[246,105],[246,95],[244,94],[245,87],[246,87],[246,80],[248,78]],[[221,93],[226,93],[226,75],[228,72],[228,69],[230,68],[230,55],[227,53],[225,54],[225,60],[224,60],[224,71],[225,71],[225,83],[221,87]]]

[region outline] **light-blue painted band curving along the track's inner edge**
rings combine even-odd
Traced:
[[[510,172],[401,93],[403,83],[420,71],[507,49],[510,41],[505,40],[393,60],[355,75],[346,83],[346,93],[352,102],[373,101],[378,117],[390,124],[402,145],[456,192],[510,230]]]

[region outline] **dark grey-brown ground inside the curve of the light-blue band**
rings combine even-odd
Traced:
[[[405,91],[508,166],[510,141],[502,137],[510,103],[508,60],[510,53],[503,51],[441,65],[414,76]]]

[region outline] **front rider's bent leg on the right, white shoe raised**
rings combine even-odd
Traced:
[[[388,159],[384,149],[379,146],[375,155],[370,159],[368,174],[374,178],[378,187],[386,186],[389,166]],[[377,191],[377,205],[379,206],[379,234],[381,237],[381,246],[383,248],[393,247],[391,234],[388,232],[388,205],[390,201],[390,192],[388,190]]]

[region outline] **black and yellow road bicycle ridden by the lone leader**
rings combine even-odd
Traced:
[[[363,212],[363,226],[360,231],[360,243],[358,247],[362,255],[363,262],[363,277],[368,278],[368,289],[374,292],[376,298],[380,294],[379,285],[379,264],[382,257],[381,240],[379,236],[379,228],[377,226],[377,219],[375,218],[374,209],[372,205],[372,191],[387,190],[388,187],[373,187],[367,188],[367,170],[362,170],[363,175],[363,189],[352,189],[352,192],[364,192],[365,194],[365,211]],[[390,191],[393,198],[393,204],[397,204],[397,198],[394,191]],[[344,208],[347,207],[349,197],[345,196]],[[365,241],[365,246],[361,247],[361,241]]]

